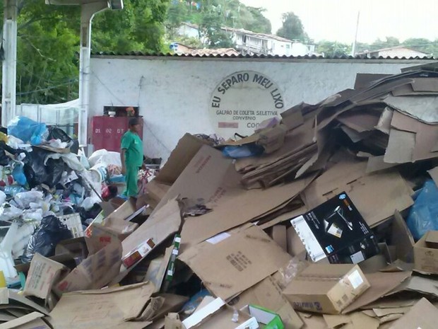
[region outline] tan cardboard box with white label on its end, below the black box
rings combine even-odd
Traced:
[[[312,264],[292,279],[283,294],[297,310],[338,314],[368,288],[357,265]]]

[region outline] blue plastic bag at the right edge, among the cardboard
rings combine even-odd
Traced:
[[[438,187],[433,180],[427,180],[415,198],[406,221],[415,241],[420,240],[427,231],[438,230],[437,200]]]

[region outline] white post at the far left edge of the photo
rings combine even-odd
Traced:
[[[6,127],[16,115],[18,0],[4,0],[3,75],[1,78],[1,125]]]

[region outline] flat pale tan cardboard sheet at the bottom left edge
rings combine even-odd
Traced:
[[[137,318],[155,287],[148,282],[63,294],[50,313],[54,328],[111,328]],[[124,328],[123,326],[121,328]]]

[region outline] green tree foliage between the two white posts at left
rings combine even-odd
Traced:
[[[77,7],[18,1],[17,103],[77,97],[79,17]]]

